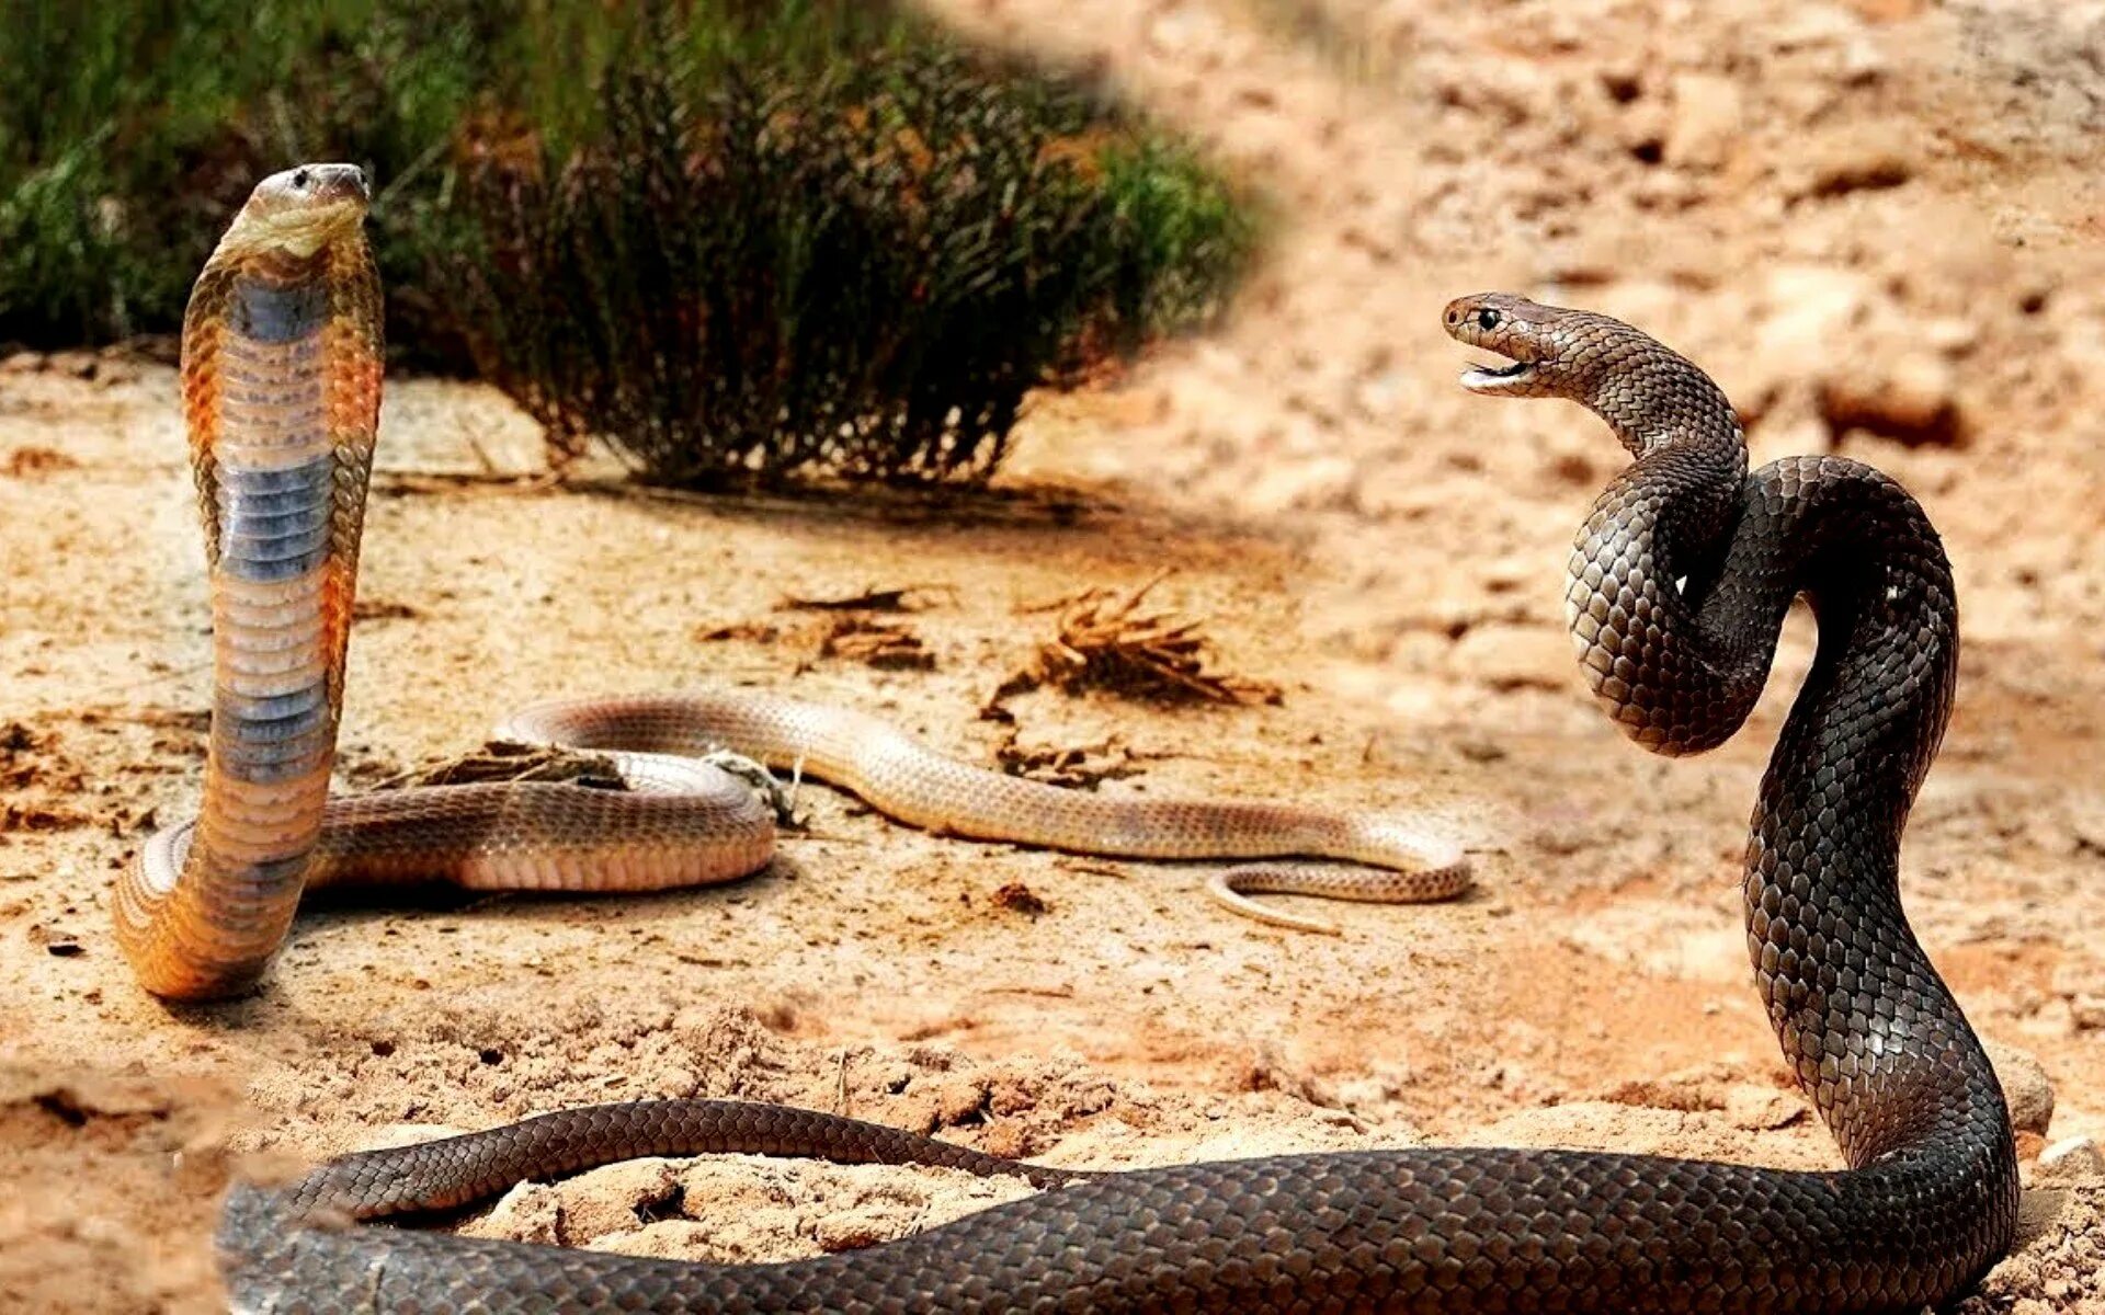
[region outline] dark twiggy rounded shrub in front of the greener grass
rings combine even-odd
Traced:
[[[653,480],[985,476],[1151,257],[1088,156],[1048,149],[1088,105],[949,53],[693,99],[636,74],[604,124],[476,170],[486,257],[446,267],[484,372]]]

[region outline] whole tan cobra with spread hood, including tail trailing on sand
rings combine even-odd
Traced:
[[[802,766],[933,831],[1132,858],[1269,863],[1208,892],[1425,901],[1469,884],[1461,850],[1404,816],[1269,802],[1128,800],[947,760],[882,722],[766,694],[547,703],[501,736],[600,751],[627,789],[484,783],[330,800],[343,656],[381,396],[381,288],[364,175],[265,179],[198,276],[183,404],[213,591],[215,690],[196,823],[154,835],[116,886],[116,932],[158,995],[250,987],[303,890],[448,879],[480,890],[663,890],[768,863],[770,810],[701,755]]]

